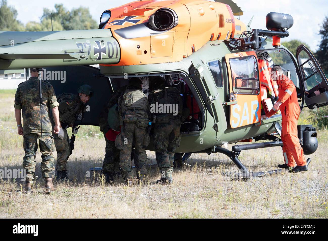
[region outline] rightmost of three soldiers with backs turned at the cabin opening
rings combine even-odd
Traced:
[[[164,78],[157,76],[149,84],[149,104],[154,120],[154,148],[156,161],[162,177],[157,183],[172,183],[174,153],[180,145],[180,127],[182,124],[182,98],[179,90],[165,83]],[[174,113],[156,112],[153,106],[172,104],[177,106]],[[173,110],[173,108],[172,108]]]

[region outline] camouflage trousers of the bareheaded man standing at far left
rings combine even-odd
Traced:
[[[38,150],[37,139],[39,139],[39,147],[42,157],[41,172],[43,178],[53,178],[55,163],[52,152],[55,150],[53,144],[53,137],[50,132],[42,133],[30,133],[24,134],[24,151],[23,168],[26,170],[26,176],[28,179],[33,180],[35,176],[35,153]]]

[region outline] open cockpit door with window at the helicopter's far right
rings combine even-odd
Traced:
[[[318,61],[304,45],[296,50],[297,64],[304,86],[304,101],[309,109],[328,105],[328,82]]]

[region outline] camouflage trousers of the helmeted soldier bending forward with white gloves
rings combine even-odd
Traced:
[[[64,131],[64,139],[59,139],[57,134],[53,134],[57,151],[56,171],[67,171],[67,160],[70,157],[71,146],[67,130]]]

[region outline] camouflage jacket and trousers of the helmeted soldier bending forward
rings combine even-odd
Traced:
[[[71,147],[70,137],[66,128],[74,128],[75,121],[82,121],[85,106],[78,94],[72,93],[60,94],[58,96],[58,102],[59,120],[64,131],[64,138],[60,140],[58,134],[53,134],[57,151],[56,171],[67,171],[67,160],[70,157]],[[51,119],[51,124],[54,126],[53,119]]]

